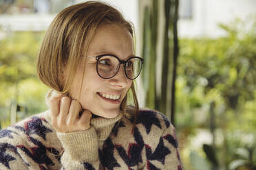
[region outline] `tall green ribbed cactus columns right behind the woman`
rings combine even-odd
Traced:
[[[158,40],[158,18],[160,5],[164,3],[164,47],[157,49]],[[151,109],[160,110],[167,115],[174,123],[174,106],[175,106],[175,77],[176,65],[178,59],[178,36],[177,36],[177,21],[178,21],[178,0],[152,0],[149,5],[146,5],[143,13],[143,46],[142,56],[145,59],[145,65],[142,73],[144,87],[146,91],[146,106]],[[169,32],[173,32],[173,36],[169,38]],[[169,45],[169,42],[171,45]],[[160,96],[156,94],[156,60],[157,50],[163,52],[162,67],[162,82]],[[173,53],[173,55],[171,55]],[[169,66],[172,66],[169,68]],[[171,70],[171,71],[170,71]],[[171,72],[171,73],[170,73]],[[171,75],[171,76],[170,76]],[[167,101],[167,95],[171,90],[171,101]],[[171,103],[171,110],[167,110],[167,104]]]

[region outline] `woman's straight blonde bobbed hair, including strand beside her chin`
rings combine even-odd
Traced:
[[[126,21],[118,10],[106,3],[87,1],[72,5],[58,13],[47,29],[39,51],[37,60],[39,79],[50,88],[68,95],[80,56],[87,53],[97,27],[105,24],[116,24],[125,27],[134,37],[134,29],[131,23]],[[67,74],[63,81],[64,66]],[[138,100],[134,82],[132,82],[130,90],[136,114],[130,114],[126,111],[127,96],[122,100],[120,110],[127,117],[136,120]]]

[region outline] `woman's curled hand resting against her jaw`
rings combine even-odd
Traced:
[[[77,100],[58,93],[51,97],[49,104],[52,125],[57,132],[79,132],[89,129],[92,113],[83,110]],[[81,112],[83,113],[80,116]]]

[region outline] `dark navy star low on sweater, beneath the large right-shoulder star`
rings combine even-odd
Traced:
[[[147,160],[158,160],[159,162],[162,163],[162,165],[164,165],[165,157],[171,154],[171,151],[168,149],[168,147],[164,146],[164,140],[162,137],[160,137],[158,146],[156,147],[153,153],[149,145],[145,145],[145,147]]]

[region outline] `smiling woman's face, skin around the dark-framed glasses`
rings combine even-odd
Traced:
[[[101,25],[96,29],[87,56],[112,54],[120,60],[127,60],[127,58],[134,56],[133,47],[133,38],[127,29],[118,25]],[[78,99],[82,80],[81,97],[78,99],[82,108],[100,117],[116,117],[120,112],[121,101],[131,87],[132,80],[125,76],[123,66],[120,66],[116,76],[111,79],[101,78],[96,71],[96,58],[87,58],[83,77],[84,59],[81,60],[74,77],[74,84],[70,92],[71,97]],[[119,99],[107,99],[107,96],[108,98]]]

